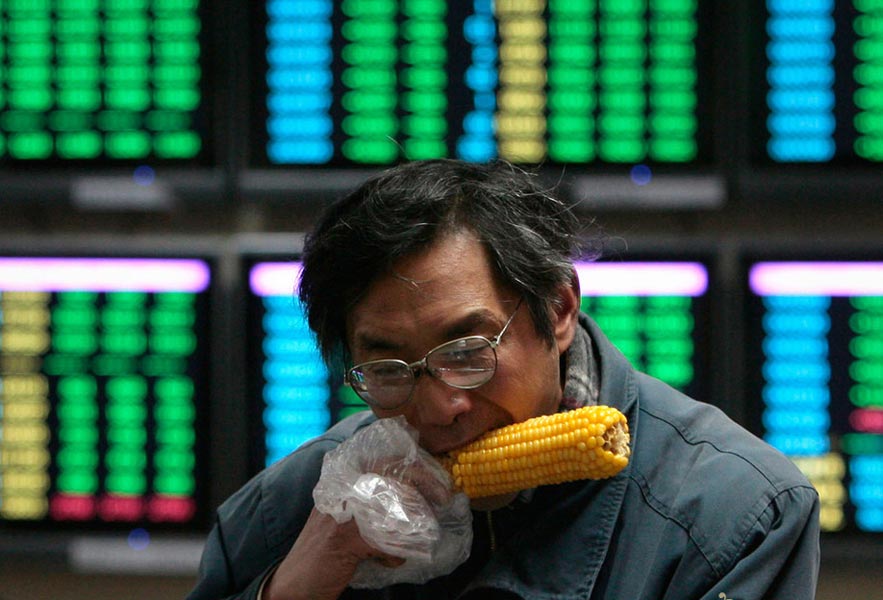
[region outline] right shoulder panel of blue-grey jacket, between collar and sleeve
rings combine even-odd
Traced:
[[[639,416],[631,477],[644,501],[678,523],[725,572],[783,511],[812,514],[818,495],[778,450],[720,409],[636,373]]]

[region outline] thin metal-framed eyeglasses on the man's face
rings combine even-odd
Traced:
[[[385,410],[407,403],[417,378],[424,372],[458,390],[480,387],[496,373],[496,348],[520,307],[521,300],[500,333],[491,339],[481,335],[457,338],[436,346],[413,363],[397,359],[364,362],[346,372],[344,383],[370,406]]]

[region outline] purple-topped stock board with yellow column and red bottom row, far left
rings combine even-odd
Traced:
[[[196,523],[209,264],[0,258],[0,524]]]

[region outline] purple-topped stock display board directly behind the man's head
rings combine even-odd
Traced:
[[[708,273],[694,262],[577,263],[582,308],[640,369],[704,394]],[[279,460],[365,403],[329,373],[295,298],[297,262],[249,268],[252,468]]]

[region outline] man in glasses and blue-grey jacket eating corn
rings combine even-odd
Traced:
[[[634,371],[580,314],[578,228],[505,163],[405,164],[332,206],[307,241],[300,297],[323,356],[373,414],[305,444],[219,509],[191,598],[813,597],[815,491],[717,409]],[[480,381],[438,368],[462,359],[464,337],[496,361]],[[342,440],[404,415],[438,454],[596,403],[629,420],[631,462],[616,477],[473,503],[472,551],[453,573],[348,588],[361,561],[401,561],[312,508],[322,457]]]

